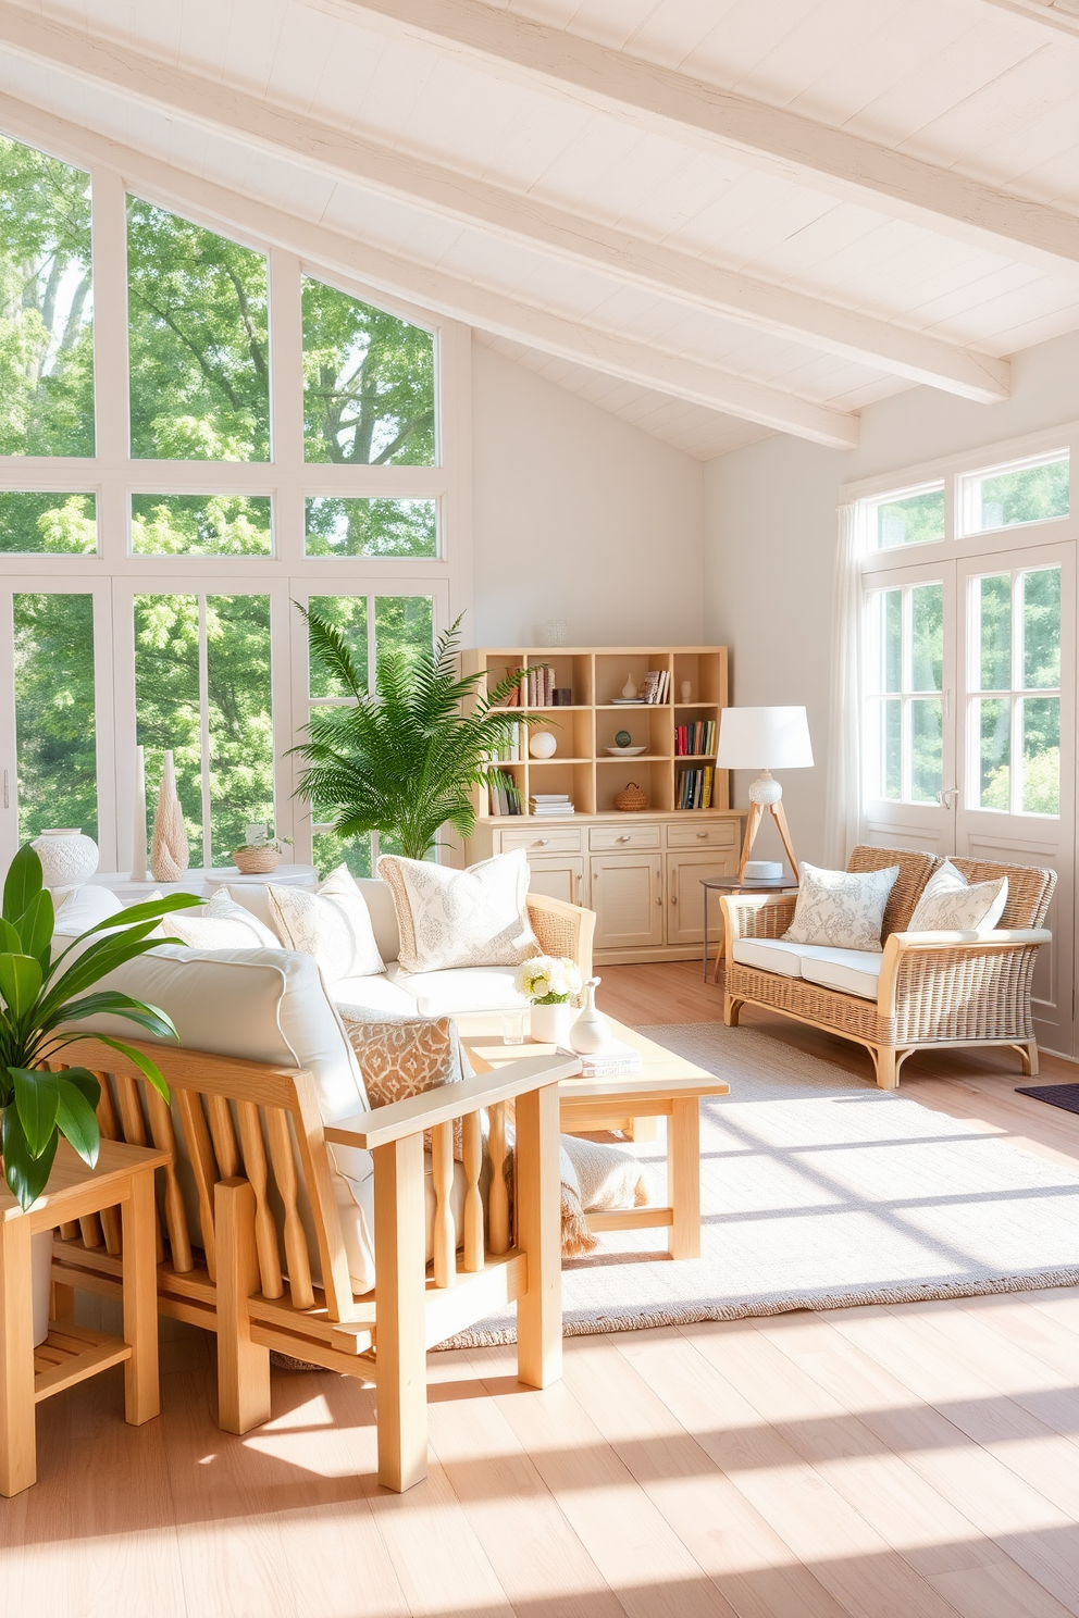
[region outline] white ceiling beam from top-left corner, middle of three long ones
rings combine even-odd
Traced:
[[[0,3],[0,40],[63,73],[107,84],[128,97],[168,107],[225,131],[244,146],[288,154],[306,167],[369,191],[482,228],[514,244],[641,286],[676,304],[704,309],[772,337],[872,366],[977,403],[1009,395],[1009,364],[875,316],[723,270],[623,230],[513,194],[451,168],[230,89],[118,44],[87,39],[63,24]]]

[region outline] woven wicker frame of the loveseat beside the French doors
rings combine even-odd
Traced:
[[[1008,877],[1008,903],[996,930],[982,935],[904,932],[922,888],[943,861],[935,854],[898,848],[854,849],[848,870],[899,866],[885,909],[883,955],[870,963],[857,951],[809,950],[806,955],[831,958],[827,963],[830,976],[840,981],[844,966],[835,958],[854,958],[846,971],[859,992],[788,976],[798,972],[798,961],[791,964],[789,955],[780,961],[776,953],[781,969],[767,971],[762,964],[768,959],[767,951],[739,948],[749,940],[780,940],[794,916],[796,895],[739,893],[725,898],[723,1021],[736,1027],[743,1005],[759,1005],[853,1039],[870,1052],[882,1089],[898,1086],[899,1068],[909,1055],[940,1045],[1011,1045],[1019,1053],[1022,1071],[1037,1073],[1030,979],[1039,947],[1051,938],[1042,924],[1056,874],[982,859],[953,858],[951,862],[967,882]],[[738,959],[739,955],[752,955],[755,964]],[[859,964],[878,966],[880,976],[851,971]]]

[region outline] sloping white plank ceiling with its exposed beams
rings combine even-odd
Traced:
[[[1079,327],[1079,0],[0,0],[0,128],[699,458]]]

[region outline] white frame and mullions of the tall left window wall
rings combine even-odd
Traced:
[[[435,633],[472,605],[472,442],[471,442],[471,328],[417,309],[372,288],[340,267],[320,264],[257,239],[199,204],[199,181],[157,165],[165,176],[150,186],[141,176],[97,160],[100,144],[81,144],[65,128],[55,138],[47,113],[31,108],[3,118],[15,141],[45,150],[91,175],[94,280],[94,456],[0,456],[0,490],[92,493],[97,503],[97,553],[92,557],[0,555],[0,579],[19,592],[79,592],[104,586],[108,612],[94,615],[97,793],[102,869],[128,870],[133,856],[134,801],[134,636],[131,594],[251,592],[270,595],[275,815],[281,837],[293,838],[293,858],[311,858],[312,827],[307,807],[291,794],[299,773],[288,756],[301,739],[307,717],[307,644],[299,633],[294,595],[413,595],[434,597]],[[270,299],[270,442],[269,461],[154,461],[129,453],[128,400],[128,275],[126,196],[142,197],[170,212],[228,236],[269,262]],[[343,466],[304,460],[303,442],[303,277],[372,303],[432,332],[435,343],[437,466]],[[134,557],[129,510],[138,493],[269,495],[273,531],[270,557]],[[358,498],[417,498],[437,502],[438,555],[434,558],[307,557],[306,500],[317,495]],[[126,618],[125,618],[126,612]],[[293,623],[293,620],[296,620]],[[374,633],[374,626],[372,626]],[[281,650],[277,649],[280,637]],[[0,634],[3,639],[3,634]],[[8,631],[10,641],[10,631]],[[11,646],[0,646],[0,675],[10,667]],[[0,859],[18,846],[15,791],[15,696],[0,697],[0,749],[8,772],[6,804],[0,794]],[[298,693],[303,689],[303,704]],[[207,760],[204,760],[204,769]]]

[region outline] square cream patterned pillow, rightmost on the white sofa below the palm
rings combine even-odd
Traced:
[[[406,972],[519,966],[540,953],[529,922],[523,848],[468,870],[383,854],[379,875],[393,893]]]

